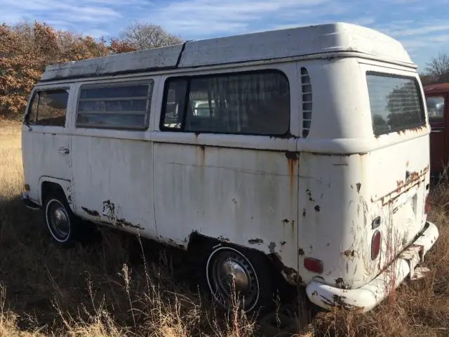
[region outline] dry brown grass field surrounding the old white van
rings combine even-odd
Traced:
[[[101,230],[61,249],[25,209],[20,125],[0,121],[0,336],[259,336],[260,324],[204,305],[173,252]],[[297,309],[293,336],[449,336],[449,184],[433,192],[441,230],[427,277],[401,285],[366,315]],[[157,247],[159,248],[159,247]],[[143,252],[143,253],[142,253]],[[161,254],[160,254],[161,253]],[[265,336],[268,336],[265,335]]]

